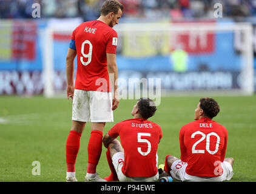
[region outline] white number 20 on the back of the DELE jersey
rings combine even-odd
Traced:
[[[206,138],[206,151],[209,152],[211,155],[214,155],[215,153],[218,152],[218,146],[220,145],[220,136],[218,136],[217,133],[212,132],[212,133],[208,133],[207,135],[205,135],[203,132],[197,131],[195,133],[192,133],[191,138],[195,138],[195,135],[201,135],[202,137],[197,142],[195,142],[195,144],[192,146],[192,153],[204,153],[204,150],[196,150],[195,146],[197,146],[197,144],[199,144],[205,138]],[[217,142],[216,142],[214,151],[210,150],[210,136],[211,135],[213,135],[217,138]]]

